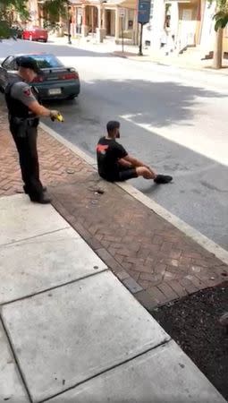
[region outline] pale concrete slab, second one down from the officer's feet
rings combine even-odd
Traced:
[[[0,256],[0,304],[106,270],[72,228],[0,246]]]

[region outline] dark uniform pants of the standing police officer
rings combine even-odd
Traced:
[[[10,124],[10,129],[19,152],[24,190],[30,195],[31,200],[39,200],[43,194],[43,185],[39,180],[37,150],[38,128],[28,126],[23,137],[18,135],[18,127],[16,124]]]

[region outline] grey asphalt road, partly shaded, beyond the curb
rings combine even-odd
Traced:
[[[64,124],[46,124],[95,156],[109,119],[122,144],[173,184],[131,180],[141,192],[228,250],[228,75],[134,62],[69,46],[8,41],[11,53],[51,52],[78,68],[79,99],[57,102]]]

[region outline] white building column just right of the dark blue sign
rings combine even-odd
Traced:
[[[154,0],[153,24],[151,30],[151,49],[158,50],[161,47],[161,39],[164,34],[165,1]]]

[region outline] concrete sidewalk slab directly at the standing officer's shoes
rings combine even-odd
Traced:
[[[31,203],[17,194],[0,199],[0,245],[70,227],[51,205]]]

